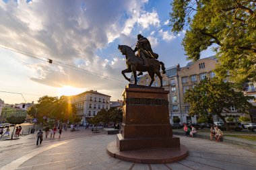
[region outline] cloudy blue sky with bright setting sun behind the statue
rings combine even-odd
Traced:
[[[132,46],[137,34],[150,40],[166,68],[185,67],[189,60],[181,42],[186,30],[170,31],[170,3],[0,0],[0,99],[37,103],[43,95],[88,90],[110,95],[111,101],[122,99],[129,82],[121,75],[126,64],[117,47]],[[201,57],[213,54],[207,49]]]

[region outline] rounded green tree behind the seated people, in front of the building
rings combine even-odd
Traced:
[[[209,114],[219,116],[227,126],[222,112],[230,112],[228,108],[234,107],[238,112],[248,114],[251,107],[249,99],[254,97],[245,96],[241,91],[235,91],[232,83],[224,83],[220,79],[205,79],[193,89],[185,93],[185,102],[190,103],[189,115],[207,117]]]

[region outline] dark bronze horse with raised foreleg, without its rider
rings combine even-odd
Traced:
[[[143,65],[143,60],[141,58],[138,58],[137,56],[135,56],[135,53],[133,52],[133,49],[131,49],[131,47],[125,46],[125,45],[119,45],[118,48],[121,51],[121,53],[125,55],[125,58],[126,58],[127,69],[122,71],[122,75],[125,77],[125,79],[127,79],[127,81],[131,81],[131,79],[126,77],[125,73],[132,72],[135,80],[134,84],[137,85],[136,71],[142,71],[142,72],[148,71],[148,75],[150,75],[150,78],[151,78],[149,86],[151,86],[152,83],[154,82],[154,75],[156,73],[156,75],[160,79],[160,83],[161,83],[160,87],[162,87],[162,76],[160,73],[161,67],[162,67],[162,74],[166,73],[163,62],[158,61],[154,58],[147,58],[149,66],[146,66],[146,65]]]

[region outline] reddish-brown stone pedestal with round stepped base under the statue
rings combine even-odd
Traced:
[[[108,144],[108,155],[134,163],[172,163],[187,157],[187,148],[172,136],[168,93],[158,87],[127,85],[121,134]]]

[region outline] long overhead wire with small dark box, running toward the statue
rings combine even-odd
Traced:
[[[36,56],[36,54],[32,54],[32,53],[30,53],[30,52],[24,52],[24,51],[22,51],[22,50],[18,50],[18,49],[15,49],[15,48],[12,48],[12,47],[10,47],[10,46],[5,46],[5,45],[3,45],[3,44],[0,44],[0,47],[1,48],[4,48],[4,49],[6,49],[6,50],[11,50],[11,51],[13,51],[13,52],[17,52],[17,53],[20,53],[20,54],[24,54],[25,56],[30,56],[30,57],[32,57],[32,58],[36,58],[36,59],[38,59],[38,60],[42,60],[42,61],[44,61],[44,62],[49,62],[49,63],[51,63],[51,64],[55,64],[55,65],[58,65],[57,64],[57,62],[59,63],[59,64],[61,64],[61,65],[59,65],[59,66],[61,66],[61,67],[65,67],[65,68],[67,68],[67,69],[72,69],[72,70],[75,70],[75,71],[84,71],[84,72],[86,72],[86,73],[88,73],[88,74],[90,74],[90,75],[96,75],[96,76],[98,76],[98,77],[100,77],[101,79],[106,79],[106,80],[111,80],[111,79],[113,79],[113,80],[115,80],[115,81],[119,81],[119,83],[124,83],[124,84],[127,84],[127,83],[125,83],[125,81],[122,81],[122,80],[120,80],[120,79],[116,79],[116,78],[114,78],[114,77],[109,77],[109,76],[106,76],[106,75],[101,75],[101,74],[99,74],[99,73],[95,73],[95,72],[93,72],[93,71],[88,71],[88,70],[86,70],[86,69],[82,69],[82,68],[79,68],[79,67],[76,67],[76,66],[73,66],[73,65],[68,65],[68,64],[65,64],[65,62],[61,62],[61,61],[58,61],[58,60],[51,60],[51,59],[49,59],[49,58],[44,58],[44,57],[37,57]],[[54,61],[54,62],[53,62]]]

